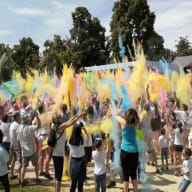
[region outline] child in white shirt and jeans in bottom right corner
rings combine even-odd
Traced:
[[[192,154],[192,152],[190,149],[185,149],[185,151],[183,153],[183,157],[184,157],[183,175],[184,175],[184,178],[179,185],[179,192],[185,192],[192,181],[192,161],[190,159],[191,154]]]

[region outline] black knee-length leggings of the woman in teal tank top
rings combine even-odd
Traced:
[[[138,153],[129,153],[121,150],[120,158],[123,180],[128,182],[129,177],[131,177],[131,180],[137,179]]]

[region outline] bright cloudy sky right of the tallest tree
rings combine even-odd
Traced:
[[[150,0],[149,5],[156,14],[155,30],[164,37],[165,47],[175,49],[176,40],[181,36],[191,36],[191,0]]]

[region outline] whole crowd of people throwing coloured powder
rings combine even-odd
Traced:
[[[138,183],[144,182],[145,162],[156,168],[156,174],[166,174],[173,168],[174,175],[183,175],[178,190],[186,191],[192,181],[191,106],[180,103],[173,93],[162,108],[158,102],[151,101],[149,85],[135,108],[122,110],[121,102],[120,99],[115,103],[115,119],[123,191],[129,191],[130,181],[133,191],[138,191]],[[83,192],[90,179],[87,168],[91,161],[94,162],[95,192],[114,187],[112,165],[116,151],[112,132],[100,130],[93,134],[88,129],[91,124],[102,124],[105,118],[112,118],[110,99],[100,102],[95,93],[84,109],[79,106],[72,109],[63,103],[53,112],[53,105],[54,102],[47,106],[39,99],[33,108],[26,96],[22,96],[20,105],[15,100],[1,103],[0,182],[5,191],[10,191],[10,179],[18,179],[20,187],[27,185],[25,173],[29,162],[34,166],[37,184],[42,182],[40,177],[53,179],[49,168],[53,162],[55,192],[61,191],[63,176],[71,180],[70,192],[76,189]],[[67,138],[68,129],[72,131]],[[54,136],[55,143],[51,144]],[[109,183],[107,172],[111,173]]]

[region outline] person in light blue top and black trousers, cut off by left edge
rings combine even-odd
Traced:
[[[2,182],[5,192],[10,192],[8,168],[7,168],[9,155],[6,149],[3,147],[2,141],[3,141],[3,133],[0,130],[0,182]]]

